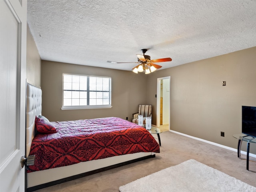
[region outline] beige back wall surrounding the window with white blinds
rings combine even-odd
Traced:
[[[138,112],[138,104],[146,103],[145,74],[58,63],[42,60],[41,68],[42,114],[50,121],[78,120],[116,116],[132,119]],[[112,108],[61,110],[62,73],[109,76],[112,78]]]

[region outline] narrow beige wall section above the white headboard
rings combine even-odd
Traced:
[[[36,86],[41,86],[41,58],[28,25],[26,79]]]

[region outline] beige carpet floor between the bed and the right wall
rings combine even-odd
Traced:
[[[256,187],[255,158],[250,158],[251,171],[247,171],[245,155],[242,155],[243,159],[240,160],[234,151],[168,131],[161,133],[160,137],[162,146],[156,158],[86,176],[37,190],[37,192],[118,192],[120,186],[189,159],[206,164]]]

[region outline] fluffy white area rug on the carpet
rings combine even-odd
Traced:
[[[120,192],[256,192],[256,188],[190,159],[119,187]]]

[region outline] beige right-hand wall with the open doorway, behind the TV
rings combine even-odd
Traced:
[[[171,76],[171,130],[237,148],[232,135],[242,131],[242,105],[256,106],[255,61],[256,47],[158,70],[147,77],[148,103],[156,106],[157,78]]]

